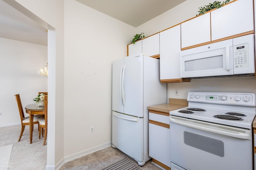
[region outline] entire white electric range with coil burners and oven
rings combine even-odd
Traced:
[[[172,170],[252,170],[255,94],[189,92],[187,100],[170,111]]]

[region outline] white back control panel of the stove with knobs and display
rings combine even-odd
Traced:
[[[254,93],[188,92],[188,102],[256,106]]]

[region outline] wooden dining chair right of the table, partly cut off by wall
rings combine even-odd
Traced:
[[[42,137],[44,136],[44,145],[45,145],[46,136],[47,136],[47,115],[48,115],[48,95],[44,95],[44,117],[38,120],[39,139],[41,138],[41,129],[42,129]]]

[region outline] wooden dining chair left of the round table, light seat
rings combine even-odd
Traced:
[[[29,125],[29,117],[24,116],[24,112],[23,112],[23,108],[22,108],[22,104],[21,104],[21,100],[20,100],[20,94],[15,94],[14,96],[16,98],[16,101],[17,101],[17,104],[18,104],[18,109],[19,109],[19,112],[20,112],[21,131],[20,131],[20,138],[18,140],[18,142],[19,142],[21,137],[22,137],[22,134],[24,132],[25,126]],[[40,117],[42,117],[42,115],[34,115],[33,125],[38,124],[38,120],[39,120]],[[38,126],[38,129],[39,129],[39,126]]]

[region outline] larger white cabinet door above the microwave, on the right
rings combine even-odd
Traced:
[[[212,41],[254,30],[253,1],[238,0],[211,12]]]

